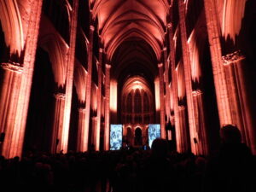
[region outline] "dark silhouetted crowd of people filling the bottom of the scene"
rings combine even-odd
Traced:
[[[225,132],[224,132],[225,131]],[[256,191],[256,160],[239,133],[226,127],[209,157],[179,154],[156,139],[150,150],[0,157],[0,189],[44,192]],[[236,137],[230,137],[230,135]]]

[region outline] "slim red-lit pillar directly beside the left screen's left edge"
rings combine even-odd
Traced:
[[[104,150],[109,150],[109,97],[110,97],[110,69],[111,65],[106,64],[105,72],[105,142]]]

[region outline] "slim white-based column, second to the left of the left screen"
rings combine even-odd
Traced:
[[[99,51],[98,63],[98,93],[97,93],[97,120],[96,120],[96,141],[95,149],[100,150],[100,133],[101,133],[101,117],[102,117],[102,53],[103,49]]]

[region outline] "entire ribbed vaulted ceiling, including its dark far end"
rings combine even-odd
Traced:
[[[150,84],[158,74],[165,41],[166,0],[91,0],[112,74],[119,83],[142,76]]]

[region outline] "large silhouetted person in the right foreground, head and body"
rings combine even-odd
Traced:
[[[225,125],[220,130],[222,140],[219,152],[209,160],[204,191],[255,191],[253,190],[253,155],[241,143],[236,125]]]

